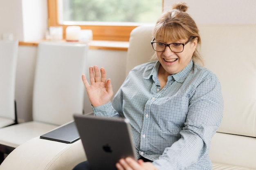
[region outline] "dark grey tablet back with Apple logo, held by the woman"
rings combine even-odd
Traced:
[[[119,159],[136,159],[128,119],[74,115],[74,120],[92,170],[116,170]]]

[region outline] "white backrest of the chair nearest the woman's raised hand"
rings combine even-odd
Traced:
[[[83,113],[88,45],[40,42],[33,91],[33,120],[61,125]]]

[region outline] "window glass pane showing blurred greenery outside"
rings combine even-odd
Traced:
[[[60,23],[155,23],[162,13],[162,0],[59,0],[58,3]]]

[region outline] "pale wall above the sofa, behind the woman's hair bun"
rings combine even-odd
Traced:
[[[164,11],[186,2],[197,24],[256,24],[256,0],[164,0]]]

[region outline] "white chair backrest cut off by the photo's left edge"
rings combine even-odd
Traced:
[[[11,121],[15,120],[17,58],[18,41],[0,40],[0,117]]]

